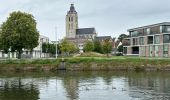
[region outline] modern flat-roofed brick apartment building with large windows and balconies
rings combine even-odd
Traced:
[[[124,55],[170,57],[170,22],[129,29],[124,39]]]

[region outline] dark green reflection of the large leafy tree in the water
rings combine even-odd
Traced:
[[[0,88],[0,100],[38,100],[39,91],[33,84],[22,84],[21,79],[6,80]]]

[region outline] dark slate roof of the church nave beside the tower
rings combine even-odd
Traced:
[[[80,28],[76,29],[76,34],[81,35],[81,34],[96,34],[95,28]]]

